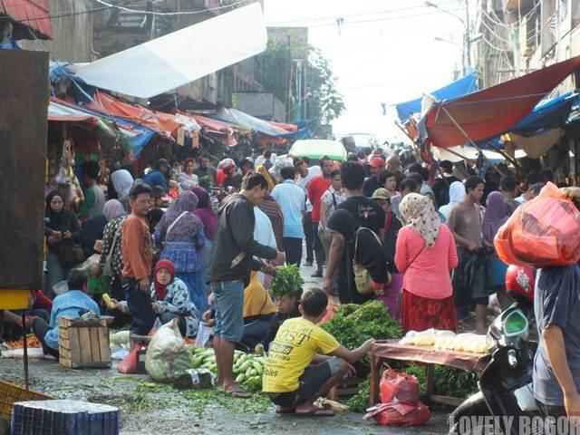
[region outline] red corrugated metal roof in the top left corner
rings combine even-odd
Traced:
[[[48,0],[0,0],[0,17],[8,15],[12,19],[17,40],[52,39],[53,26],[48,11]]]

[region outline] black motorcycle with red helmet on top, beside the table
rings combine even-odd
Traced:
[[[478,392],[450,414],[449,434],[489,433],[489,425],[491,433],[544,433],[532,388],[536,343],[528,341],[533,283],[526,283],[525,277],[531,275],[533,280],[533,272],[524,272],[522,267],[516,268],[519,288],[510,292],[508,287],[508,294],[517,302],[488,328],[488,354],[476,367],[480,372]]]

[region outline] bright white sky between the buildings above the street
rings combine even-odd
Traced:
[[[333,121],[336,136],[369,132],[403,140],[395,111],[381,103],[419,97],[449,83],[461,68],[463,24],[424,0],[266,0],[266,25],[308,26],[309,43],[331,61],[347,110]],[[464,0],[432,0],[464,16]],[[336,18],[343,17],[340,29]],[[361,22],[356,24],[355,22]],[[434,37],[453,43],[434,41]],[[458,46],[459,45],[459,46]]]

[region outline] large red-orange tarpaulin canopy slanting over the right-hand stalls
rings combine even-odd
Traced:
[[[426,142],[440,148],[466,143],[468,139],[453,121],[471,140],[497,136],[522,121],[578,68],[580,56],[449,102],[436,102],[421,120],[427,127]]]

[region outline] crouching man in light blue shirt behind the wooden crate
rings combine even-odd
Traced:
[[[58,358],[58,318],[63,315],[81,317],[92,311],[101,315],[99,305],[91,299],[89,293],[89,276],[82,270],[74,271],[67,281],[69,291],[58,295],[53,300],[50,324],[35,317],[33,331],[38,341],[43,345],[43,353]]]

